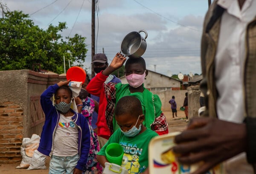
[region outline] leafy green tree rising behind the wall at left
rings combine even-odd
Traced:
[[[4,12],[0,18],[0,70],[32,69],[40,64],[41,69],[64,73],[68,60],[71,66],[81,66],[85,61],[87,49],[84,37],[76,34],[73,38],[60,34],[67,29],[65,22],[58,26],[49,25],[43,30],[20,11]]]

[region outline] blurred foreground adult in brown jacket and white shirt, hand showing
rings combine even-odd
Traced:
[[[204,118],[175,137],[178,161],[203,161],[193,174],[224,162],[227,174],[256,173],[256,0],[218,0],[201,40]],[[184,143],[186,142],[186,143]]]

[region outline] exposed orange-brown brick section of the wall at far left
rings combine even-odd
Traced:
[[[0,103],[0,164],[21,160],[23,109],[13,102]]]

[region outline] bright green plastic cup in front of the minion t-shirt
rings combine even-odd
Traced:
[[[110,163],[117,165],[122,164],[122,157],[124,155],[124,149],[118,143],[111,143],[106,148],[106,158]]]

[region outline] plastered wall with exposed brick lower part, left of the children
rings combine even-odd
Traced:
[[[23,138],[41,136],[44,113],[40,96],[65,75],[31,70],[0,71],[0,164],[20,162]]]

